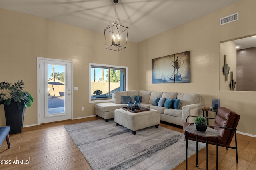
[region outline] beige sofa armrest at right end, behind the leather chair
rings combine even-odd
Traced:
[[[189,115],[192,116],[200,116],[202,115],[202,108],[204,107],[204,104],[202,103],[197,103],[197,104],[190,104],[182,107],[182,117],[183,117],[183,122],[186,122],[186,118]],[[190,117],[188,122],[194,122],[193,117]]]

